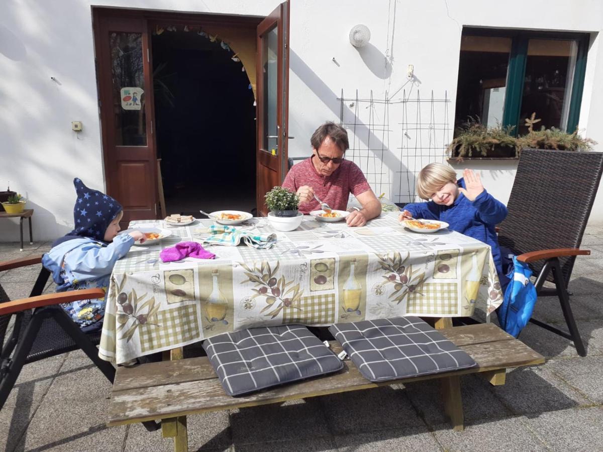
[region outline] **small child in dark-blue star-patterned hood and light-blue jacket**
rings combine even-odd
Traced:
[[[57,292],[109,287],[109,277],[118,259],[128,253],[136,240],[145,241],[140,231],[119,232],[124,212],[111,196],[89,189],[74,179],[77,201],[74,207],[75,228],[55,240],[42,265],[52,274]],[[99,331],[105,314],[104,298],[63,303],[61,306],[85,333]]]

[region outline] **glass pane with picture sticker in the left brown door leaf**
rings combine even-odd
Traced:
[[[109,35],[113,80],[113,115],[117,146],[146,146],[145,78],[142,34]]]

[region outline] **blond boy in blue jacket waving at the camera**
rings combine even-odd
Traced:
[[[502,271],[495,227],[507,217],[507,207],[484,189],[479,174],[465,169],[463,178],[456,180],[456,173],[449,166],[430,163],[418,175],[417,193],[421,198],[431,201],[406,204],[400,221],[411,216],[445,221],[450,230],[490,245],[504,291],[508,278]]]

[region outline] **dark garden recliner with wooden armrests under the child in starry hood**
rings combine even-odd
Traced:
[[[0,262],[0,272],[42,263],[42,256]],[[85,334],[58,303],[104,297],[102,289],[72,290],[42,295],[50,273],[41,268],[30,297],[10,301],[0,284],[0,409],[25,364],[81,349],[111,383],[115,368],[98,357],[100,331]],[[12,330],[8,327],[14,317]],[[143,422],[147,430],[159,428]]]

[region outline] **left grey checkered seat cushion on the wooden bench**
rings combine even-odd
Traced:
[[[329,374],[343,368],[333,352],[301,325],[250,328],[203,342],[228,395]]]

